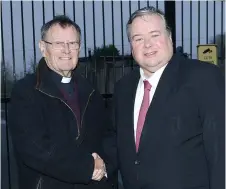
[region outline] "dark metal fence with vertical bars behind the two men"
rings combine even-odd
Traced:
[[[7,127],[7,106],[13,84],[33,72],[41,54],[40,28],[53,16],[66,14],[82,30],[79,70],[103,94],[106,108],[114,83],[137,65],[131,57],[126,22],[138,8],[154,6],[165,12],[172,28],[174,50],[182,47],[197,58],[197,45],[217,44],[219,66],[225,61],[224,1],[2,1],[1,2],[1,116],[2,188],[17,188],[15,161]],[[98,47],[114,45],[118,56],[95,59]],[[101,68],[98,67],[101,63]]]

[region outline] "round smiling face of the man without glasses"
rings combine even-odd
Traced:
[[[158,15],[133,20],[130,30],[132,54],[146,75],[168,63],[173,54],[171,36]]]

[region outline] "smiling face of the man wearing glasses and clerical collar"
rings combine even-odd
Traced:
[[[70,48],[73,43],[77,43],[78,46],[80,41],[78,32],[72,26],[62,28],[56,24],[47,32],[45,41],[40,41],[39,47],[43,57],[46,58],[48,67],[63,76],[67,76],[78,63],[80,49]],[[55,43],[55,45],[48,42]],[[59,45],[60,43],[62,45]],[[60,46],[62,48],[59,48]]]

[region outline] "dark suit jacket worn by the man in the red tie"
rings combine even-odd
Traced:
[[[125,189],[224,188],[224,77],[219,69],[174,55],[147,112],[135,151],[138,70],[115,87],[119,168]]]

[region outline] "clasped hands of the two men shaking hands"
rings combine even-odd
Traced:
[[[100,181],[104,176],[107,176],[105,163],[97,153],[92,153],[92,156],[94,158],[94,171],[92,180]]]

